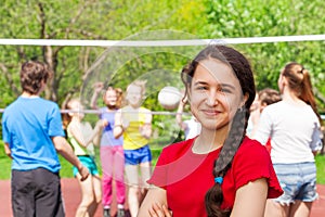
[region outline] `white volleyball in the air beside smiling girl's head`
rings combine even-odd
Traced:
[[[165,110],[176,110],[181,101],[182,94],[176,87],[167,86],[158,93],[158,101]]]

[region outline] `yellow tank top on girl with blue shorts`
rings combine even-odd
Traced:
[[[123,149],[136,150],[148,143],[148,139],[144,138],[139,130],[139,127],[145,124],[145,112],[148,112],[144,107],[139,107],[139,113],[128,113],[121,110],[121,118],[129,122],[129,127],[123,131]]]

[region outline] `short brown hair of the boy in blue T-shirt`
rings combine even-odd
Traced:
[[[28,61],[22,65],[21,85],[23,91],[37,94],[51,76],[48,65],[38,61]]]

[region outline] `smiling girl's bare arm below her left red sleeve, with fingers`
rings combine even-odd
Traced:
[[[140,206],[138,217],[171,217],[167,207],[166,190],[157,187],[151,188]]]

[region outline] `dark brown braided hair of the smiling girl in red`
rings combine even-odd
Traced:
[[[187,88],[191,87],[192,78],[196,72],[197,65],[202,61],[209,59],[219,60],[229,65],[239,80],[243,95],[248,94],[245,105],[236,112],[219,157],[214,161],[212,174],[214,178],[223,178],[229,168],[231,168],[233,157],[245,137],[249,117],[249,107],[255,99],[256,88],[250,64],[240,52],[226,46],[211,44],[200,51],[196,58],[183,68],[182,81],[185,85],[186,93],[188,91]],[[220,208],[222,201],[223,193],[221,184],[216,182],[206,193],[205,205],[208,217],[230,216],[231,210],[222,210]]]

